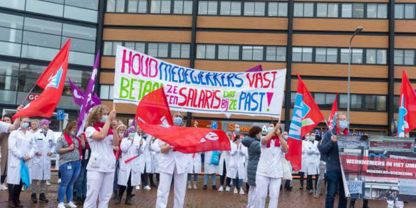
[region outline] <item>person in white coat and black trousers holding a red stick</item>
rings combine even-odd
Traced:
[[[119,136],[125,133],[125,126],[119,126]],[[139,158],[143,156],[143,140],[136,139],[136,132],[131,131],[127,137],[121,137],[120,151],[121,158],[119,159],[120,169],[118,171],[118,196],[116,204],[121,203],[124,191],[127,189],[126,201],[124,204],[132,205],[132,191],[133,187],[140,185],[140,168]],[[134,159],[133,159],[134,158]]]

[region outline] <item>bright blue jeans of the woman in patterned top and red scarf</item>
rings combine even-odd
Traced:
[[[61,184],[58,188],[59,203],[64,202],[65,194],[67,195],[67,202],[72,201],[73,185],[78,178],[80,170],[80,161],[67,162],[59,166],[59,172],[61,173]]]

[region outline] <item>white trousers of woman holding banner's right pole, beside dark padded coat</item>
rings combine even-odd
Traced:
[[[255,197],[259,200],[257,208],[264,208],[266,205],[267,192],[269,192],[270,198],[269,208],[277,208],[281,182],[282,178],[255,176]]]

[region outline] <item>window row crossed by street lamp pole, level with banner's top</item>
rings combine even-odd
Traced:
[[[293,62],[348,63],[348,48],[293,47]],[[387,64],[387,49],[352,48],[352,64]]]

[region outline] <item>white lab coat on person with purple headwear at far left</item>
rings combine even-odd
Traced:
[[[36,142],[36,152],[41,152],[42,156],[36,154],[32,160],[32,180],[50,180],[50,157],[47,153],[55,150],[54,136],[52,130],[47,130],[46,136],[42,129],[32,133]]]

